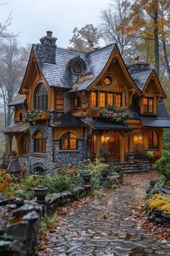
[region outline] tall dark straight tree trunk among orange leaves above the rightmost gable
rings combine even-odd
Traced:
[[[155,70],[159,78],[159,47],[158,47],[158,1],[154,12]]]

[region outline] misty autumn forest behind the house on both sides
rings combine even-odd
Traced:
[[[0,1],[0,9],[8,2]],[[13,21],[14,22],[14,21]],[[62,24],[62,23],[61,23]],[[27,67],[31,46],[19,44],[19,32],[9,32],[12,13],[0,20],[0,130],[12,124],[13,110],[8,108],[19,90]],[[170,111],[170,0],[115,0],[99,12],[99,25],[74,27],[68,48],[90,51],[117,43],[126,64],[139,56],[156,70],[166,92]],[[170,132],[164,132],[170,142]],[[0,132],[0,156],[5,150],[5,137]]]

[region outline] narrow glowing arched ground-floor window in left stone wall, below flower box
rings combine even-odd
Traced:
[[[34,152],[35,153],[46,153],[46,139],[43,137],[41,131],[35,132],[34,139]]]

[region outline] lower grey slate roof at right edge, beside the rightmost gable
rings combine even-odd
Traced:
[[[170,127],[170,116],[163,101],[158,103],[158,115],[156,117],[142,116],[140,120],[146,127]]]

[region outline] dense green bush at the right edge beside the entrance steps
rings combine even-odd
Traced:
[[[162,157],[156,161],[156,164],[153,166],[156,170],[163,174],[166,179],[170,179],[170,152],[168,150],[162,151]]]

